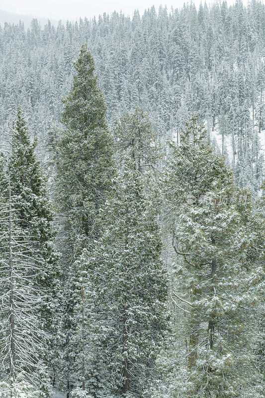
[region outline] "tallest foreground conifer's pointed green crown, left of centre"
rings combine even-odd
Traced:
[[[67,214],[68,237],[71,235],[71,243],[80,250],[99,234],[98,210],[109,189],[113,168],[105,104],[85,44],[75,70],[72,90],[64,100],[65,129],[58,143],[56,163],[57,188],[61,210]]]

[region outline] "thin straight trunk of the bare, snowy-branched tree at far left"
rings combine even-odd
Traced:
[[[14,316],[14,276],[13,276],[13,237],[12,237],[12,207],[11,207],[11,187],[9,177],[9,338],[10,338],[10,353],[9,353],[9,372],[10,372],[10,387],[12,396],[12,385],[15,380],[15,316]]]

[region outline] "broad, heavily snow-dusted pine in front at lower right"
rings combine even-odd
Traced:
[[[222,203],[244,195],[218,185],[207,195],[208,203],[181,205],[174,228],[174,249],[183,257],[177,275],[189,302],[186,395],[253,397],[261,378],[251,354],[257,324],[250,327],[250,308],[258,299],[251,288],[263,271],[248,264],[253,234],[237,203]]]

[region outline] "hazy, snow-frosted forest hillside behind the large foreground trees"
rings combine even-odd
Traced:
[[[73,60],[83,42],[95,61],[109,123],[140,105],[160,138],[178,138],[192,112],[207,123],[236,180],[259,191],[263,181],[265,6],[190,3],[155,7],[132,18],[114,12],[98,20],[0,29],[0,125],[8,131],[16,105],[44,150],[47,130],[60,119]],[[213,133],[212,133],[213,130]],[[232,149],[231,149],[232,148]]]

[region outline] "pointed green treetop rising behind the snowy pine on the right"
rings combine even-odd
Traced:
[[[231,184],[232,172],[222,156],[218,156],[207,140],[206,130],[193,115],[180,133],[180,145],[171,143],[171,163],[166,169],[169,201],[186,201],[188,194],[196,199],[212,190],[215,182],[221,187]]]

